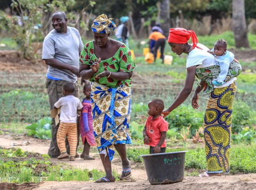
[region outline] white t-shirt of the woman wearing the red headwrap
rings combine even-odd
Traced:
[[[214,55],[207,52],[210,50],[208,47],[200,43],[197,43],[197,46],[201,47],[202,49],[195,47],[195,49],[189,52],[189,56],[187,57],[187,64],[186,64],[187,68],[195,65],[197,66],[197,68],[206,68],[208,66],[217,65],[217,63],[215,62]],[[236,77],[230,79],[230,81],[226,82],[221,86],[214,85],[214,88],[226,87],[232,84],[235,80],[236,80]]]

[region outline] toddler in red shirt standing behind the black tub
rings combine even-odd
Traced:
[[[168,123],[161,115],[165,104],[160,98],[148,102],[148,115],[150,115],[143,129],[144,144],[150,145],[150,154],[165,153],[166,132]]]

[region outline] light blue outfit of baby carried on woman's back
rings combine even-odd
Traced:
[[[212,49],[211,51],[213,52],[213,50],[214,49]],[[219,73],[219,76],[217,77],[217,79],[213,80],[214,85],[218,85],[218,83],[220,83],[219,85],[222,85],[225,83],[224,80],[226,79],[228,74],[229,64],[233,60],[234,60],[234,54],[228,50],[226,51],[226,54],[223,56],[215,56],[215,62],[220,66],[221,72]]]

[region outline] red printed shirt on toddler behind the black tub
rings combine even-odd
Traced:
[[[151,141],[148,144],[152,147],[155,147],[160,139],[161,139],[161,132],[168,131],[168,123],[164,120],[163,116],[159,116],[153,119],[153,116],[149,116],[146,121],[146,133]],[[161,148],[166,147],[166,142],[164,141],[161,145]]]

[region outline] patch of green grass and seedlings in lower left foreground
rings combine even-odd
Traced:
[[[27,158],[28,157],[28,158]],[[104,172],[98,169],[74,168],[67,164],[53,164],[48,155],[42,155],[43,159],[30,158],[30,152],[22,149],[0,148],[0,180],[15,183],[40,181],[95,181],[104,176]],[[113,175],[118,180],[117,169],[113,169]]]

